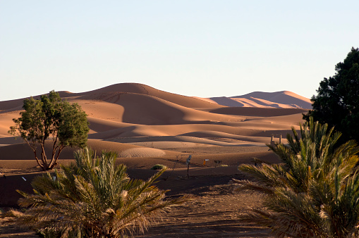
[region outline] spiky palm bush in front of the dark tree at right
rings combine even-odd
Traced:
[[[358,237],[359,148],[328,125],[309,122],[287,135],[288,145],[268,145],[281,164],[240,165],[255,177],[238,181],[241,189],[265,194],[264,210],[252,209],[243,220],[269,227],[279,237]]]

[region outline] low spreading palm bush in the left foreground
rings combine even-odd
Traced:
[[[89,149],[78,151],[75,163],[55,170],[55,177],[36,177],[35,194],[20,192],[24,198],[19,205],[30,208],[8,215],[20,225],[63,237],[78,232],[83,237],[121,237],[144,232],[165,208],[190,199],[165,199],[167,191],[153,185],[164,170],[146,181],[131,180],[126,166],[115,161],[111,152],[96,158]]]

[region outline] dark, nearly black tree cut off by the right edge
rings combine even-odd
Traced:
[[[342,141],[359,141],[359,49],[352,48],[343,62],[336,64],[336,74],[320,82],[317,96],[312,96],[310,116],[320,123],[335,126],[343,133]]]

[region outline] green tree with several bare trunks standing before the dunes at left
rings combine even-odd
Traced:
[[[69,104],[51,91],[49,96],[42,95],[40,100],[25,99],[23,109],[20,118],[13,119],[15,125],[10,127],[9,133],[25,140],[43,170],[54,168],[66,146],[83,148],[86,145],[89,123],[78,104]],[[48,160],[45,143],[49,138],[52,139],[52,150]]]

